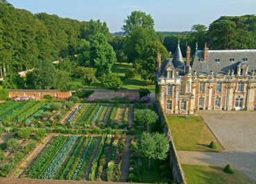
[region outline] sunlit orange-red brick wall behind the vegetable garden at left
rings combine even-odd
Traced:
[[[9,91],[9,98],[21,96],[34,96],[35,98],[44,98],[44,95],[51,95],[55,98],[70,98],[71,91],[60,90],[35,90],[35,89],[12,89]]]

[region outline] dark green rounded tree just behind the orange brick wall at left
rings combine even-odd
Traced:
[[[28,89],[51,89],[56,82],[56,69],[51,61],[40,61],[26,76]]]

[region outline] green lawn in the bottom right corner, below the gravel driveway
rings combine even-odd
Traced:
[[[254,183],[250,178],[235,171],[235,174],[228,174],[223,172],[223,167],[213,167],[204,165],[182,165],[183,172],[185,173],[185,180],[188,184],[249,184]]]

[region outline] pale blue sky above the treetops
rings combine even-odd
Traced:
[[[186,31],[209,26],[221,16],[256,14],[256,0],[8,0],[15,8],[46,12],[80,21],[106,21],[111,33],[121,31],[134,10],[150,14],[157,31]]]

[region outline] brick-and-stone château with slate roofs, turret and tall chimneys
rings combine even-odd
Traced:
[[[183,61],[178,44],[174,58],[161,64],[158,54],[158,85],[161,105],[167,114],[193,114],[194,110],[256,109],[256,50],[209,50],[207,44]]]

